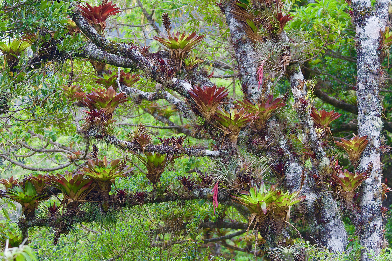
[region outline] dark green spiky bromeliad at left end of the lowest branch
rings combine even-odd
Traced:
[[[26,180],[20,182],[18,185],[12,188],[7,188],[4,193],[4,197],[12,199],[22,205],[22,212],[27,217],[30,213],[34,213],[34,210],[38,208],[38,204],[41,201],[50,198],[46,193],[38,194],[33,183]]]

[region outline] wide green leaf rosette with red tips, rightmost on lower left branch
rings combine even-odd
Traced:
[[[76,173],[91,177],[93,181],[111,181],[114,184],[116,177],[126,177],[125,174],[131,172],[132,170],[129,166],[122,168],[119,159],[108,162],[106,156],[103,156],[103,160],[96,159],[92,161],[91,159],[87,159],[87,166]]]

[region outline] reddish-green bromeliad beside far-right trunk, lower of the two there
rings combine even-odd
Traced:
[[[351,204],[355,195],[355,190],[361,185],[361,183],[369,177],[368,173],[360,172],[349,172],[348,170],[339,170],[337,175],[332,175],[332,179],[337,181],[338,191],[345,199],[347,204]]]

